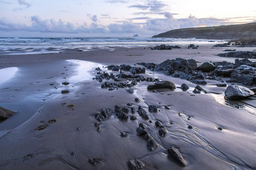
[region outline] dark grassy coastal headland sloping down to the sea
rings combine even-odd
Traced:
[[[221,25],[218,27],[199,27],[173,29],[152,38],[196,38],[196,39],[216,39],[216,40],[235,40],[235,39],[256,39],[256,23]]]

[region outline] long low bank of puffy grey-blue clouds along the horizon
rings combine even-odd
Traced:
[[[7,18],[0,18],[0,31],[2,32],[43,32],[43,33],[104,33],[113,35],[114,33],[139,33],[140,35],[155,35],[170,31],[171,29],[199,27],[200,25],[214,26],[225,25],[225,19],[216,18],[196,18],[190,15],[188,18],[175,19],[171,14],[166,13],[166,18],[150,19],[147,17],[134,19],[147,19],[145,23],[122,22],[108,25],[100,25],[96,22],[83,25],[65,22],[61,19],[42,19],[40,16],[31,16],[31,23],[14,23]],[[97,16],[90,17],[97,21]]]

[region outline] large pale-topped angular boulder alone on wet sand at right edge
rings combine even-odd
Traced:
[[[254,92],[249,88],[239,86],[236,83],[231,84],[225,90],[225,97],[228,100],[240,100],[253,96]]]

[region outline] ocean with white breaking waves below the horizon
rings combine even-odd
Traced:
[[[61,53],[65,49],[80,51],[138,46],[217,44],[220,40],[171,39],[151,37],[0,37],[0,54]]]

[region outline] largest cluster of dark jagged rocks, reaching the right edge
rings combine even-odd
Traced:
[[[230,78],[228,83],[242,83],[246,86],[256,84],[256,63],[249,59],[235,59],[235,63],[222,62],[204,62],[197,67],[194,59],[167,59],[156,65],[155,63],[138,63],[152,71],[161,71],[172,77],[186,79],[191,83],[204,85],[205,79],[213,79],[224,82],[220,76]],[[218,78],[217,78],[218,76]],[[224,84],[225,85],[225,84]]]

